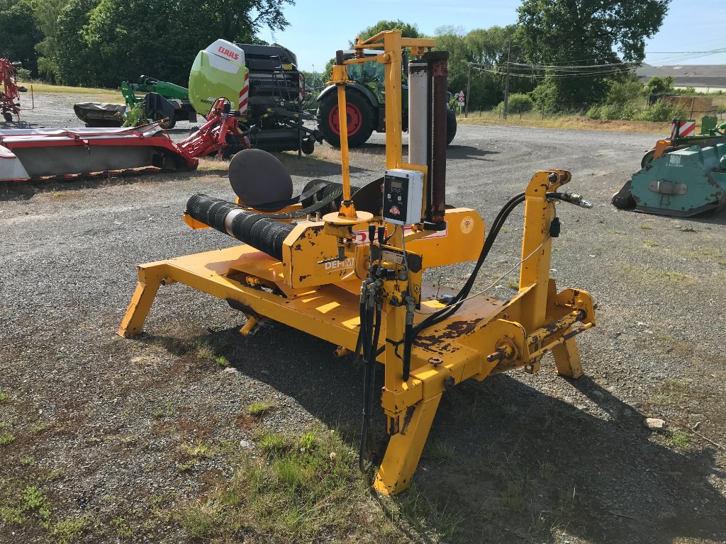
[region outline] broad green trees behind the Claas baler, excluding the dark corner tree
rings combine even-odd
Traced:
[[[261,43],[259,28],[285,28],[282,7],[289,3],[70,0],[57,18],[57,61],[49,66],[71,85],[115,87],[153,75],[185,86],[197,51],[217,38]]]

